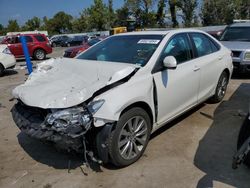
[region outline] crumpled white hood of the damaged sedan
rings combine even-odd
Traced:
[[[137,66],[68,58],[40,63],[12,94],[28,106],[68,108],[89,99],[99,89],[131,74]]]

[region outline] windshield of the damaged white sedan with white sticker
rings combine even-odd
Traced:
[[[163,37],[163,35],[112,36],[80,54],[77,59],[131,63],[144,66]]]

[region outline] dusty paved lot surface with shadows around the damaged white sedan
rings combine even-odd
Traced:
[[[56,48],[49,57],[62,56],[63,50]],[[250,169],[231,168],[250,102],[250,76],[235,76],[220,104],[202,104],[153,134],[135,164],[86,168],[81,156],[57,152],[14,124],[15,101],[9,99],[27,78],[23,65],[18,60],[16,70],[0,78],[0,187],[250,187]]]

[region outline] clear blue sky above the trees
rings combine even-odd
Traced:
[[[108,0],[104,0],[105,3]],[[123,0],[113,0],[114,9],[123,5]],[[79,13],[93,4],[93,0],[0,0],[0,24],[6,26],[8,20],[16,19],[19,25],[37,16],[53,17],[59,11],[78,17]]]

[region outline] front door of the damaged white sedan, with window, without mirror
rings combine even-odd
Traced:
[[[162,67],[166,56],[176,58],[176,69],[157,68]],[[187,34],[178,34],[169,40],[158,59],[157,66],[153,71],[153,78],[157,94],[157,123],[162,125],[197,104],[200,71],[193,60]]]

